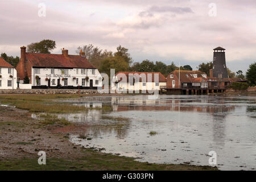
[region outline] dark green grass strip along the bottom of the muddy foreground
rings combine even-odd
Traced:
[[[56,159],[47,158],[46,165],[39,165],[38,158],[29,159],[2,159],[0,160],[0,170],[106,170],[106,171],[120,171],[120,170],[217,170],[209,166],[191,166],[187,164],[150,164],[141,163],[134,160],[134,158],[127,158],[125,156],[116,156],[111,154],[104,154],[91,149],[82,149],[86,154],[82,158],[75,159]]]

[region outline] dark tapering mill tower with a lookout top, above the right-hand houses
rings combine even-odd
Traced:
[[[217,47],[213,49],[213,77],[228,78],[228,71],[226,69],[225,49]]]

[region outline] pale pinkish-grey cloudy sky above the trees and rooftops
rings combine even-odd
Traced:
[[[38,15],[40,3],[46,16]],[[0,53],[19,56],[20,46],[42,39],[56,41],[53,53],[121,44],[134,61],[196,69],[222,46],[228,68],[245,72],[256,61],[255,20],[255,0],[1,0]]]

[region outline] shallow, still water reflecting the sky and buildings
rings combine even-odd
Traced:
[[[256,97],[160,96],[147,100],[147,96],[137,95],[63,101],[111,107],[109,112],[59,115],[89,126],[84,135],[92,140],[73,134],[73,143],[150,163],[209,166],[209,151],[215,151],[219,169],[256,168]],[[111,119],[117,117],[129,120]],[[151,136],[150,131],[157,134]]]

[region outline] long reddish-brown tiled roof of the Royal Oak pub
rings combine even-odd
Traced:
[[[56,55],[48,53],[26,53],[26,59],[32,67],[48,68],[96,68],[86,57],[78,55]]]

